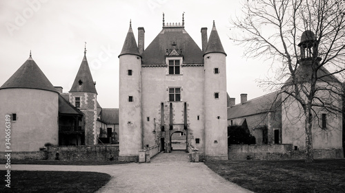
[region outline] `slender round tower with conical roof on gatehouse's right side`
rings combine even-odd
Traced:
[[[205,158],[228,159],[226,53],[213,21],[204,52]]]

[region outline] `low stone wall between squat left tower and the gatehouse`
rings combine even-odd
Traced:
[[[48,146],[48,159],[64,161],[118,161],[119,146]]]

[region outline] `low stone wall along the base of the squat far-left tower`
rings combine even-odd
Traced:
[[[34,151],[34,152],[0,152],[1,159],[6,159],[5,155],[10,153],[10,159],[19,160],[37,160],[47,159],[46,151]]]

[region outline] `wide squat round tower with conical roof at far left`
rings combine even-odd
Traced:
[[[2,151],[39,152],[46,143],[58,145],[59,93],[31,54],[0,87],[0,106],[0,123],[10,126],[10,138],[0,135]]]

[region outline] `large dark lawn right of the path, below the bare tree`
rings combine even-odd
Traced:
[[[253,192],[345,192],[345,159],[204,163],[224,179]]]

